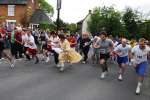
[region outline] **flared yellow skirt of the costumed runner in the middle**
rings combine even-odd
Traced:
[[[73,49],[61,52],[59,54],[60,63],[64,63],[65,61],[69,61],[70,63],[78,63],[81,59],[82,56]]]

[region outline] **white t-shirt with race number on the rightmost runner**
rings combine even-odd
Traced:
[[[146,46],[144,50],[139,48],[139,45],[133,47],[132,53],[134,54],[134,61],[136,64],[147,61],[147,55],[150,53],[150,47]]]

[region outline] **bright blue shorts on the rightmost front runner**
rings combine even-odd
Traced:
[[[140,76],[145,76],[147,62],[142,62],[136,66],[136,73]]]

